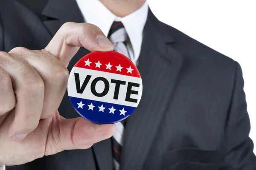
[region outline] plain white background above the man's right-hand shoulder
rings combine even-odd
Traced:
[[[256,0],[148,0],[148,4],[162,22],[240,63],[250,137],[256,145]]]

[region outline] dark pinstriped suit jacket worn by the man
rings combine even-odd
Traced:
[[[0,0],[0,51],[42,49],[67,21],[84,22],[75,0]],[[69,69],[87,53],[81,48]],[[236,61],[161,23],[149,10],[138,68],[143,95],[127,122],[120,170],[256,170]],[[67,94],[59,112],[78,116]],[[111,141],[8,168],[112,170]]]

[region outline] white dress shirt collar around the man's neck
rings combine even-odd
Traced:
[[[113,21],[121,21],[129,36],[130,42],[127,47],[134,63],[140,56],[141,43],[143,38],[143,28],[148,16],[148,3],[145,2],[141,8],[125,17],[116,17],[99,0],[76,0],[86,23],[98,26],[105,36]]]

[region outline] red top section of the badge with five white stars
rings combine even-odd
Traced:
[[[116,51],[94,51],[82,57],[74,67],[140,78],[140,73],[134,63]]]

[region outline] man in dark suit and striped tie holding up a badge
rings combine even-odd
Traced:
[[[113,49],[137,64],[143,95],[125,124],[96,125],[72,108],[68,71]],[[0,51],[6,169],[256,169],[240,65],[161,23],[145,0],[0,0]]]

